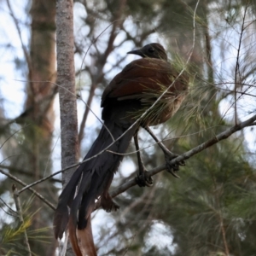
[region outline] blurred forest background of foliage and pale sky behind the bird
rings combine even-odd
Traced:
[[[0,3],[0,169],[32,183],[61,170],[55,1]],[[73,11],[81,159],[101,128],[102,90],[137,58],[126,52],[145,44],[164,45],[177,66],[192,53],[185,65],[187,99],[165,125],[154,127],[173,152],[182,154],[255,114],[255,1],[80,0]],[[163,164],[148,134],[140,131],[139,138],[148,170]],[[153,187],[115,198],[118,212],[94,212],[98,255],[256,255],[255,138],[253,125],[236,132],[187,160],[179,179],[160,172]],[[128,152],[134,150],[131,143]],[[112,189],[136,170],[136,154],[128,154]],[[11,210],[13,183],[0,174],[1,255],[25,255]],[[56,205],[61,175],[34,189]],[[20,201],[33,255],[57,255],[53,209],[27,190]]]

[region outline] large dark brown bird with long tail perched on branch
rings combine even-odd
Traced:
[[[101,206],[107,212],[119,209],[108,189],[132,137],[137,148],[137,183],[140,186],[153,183],[139,153],[137,132],[140,127],[160,144],[168,172],[176,176],[178,167],[184,164],[168,165],[177,155],[158,141],[149,126],[162,124],[177,112],[187,95],[188,76],[180,74],[168,62],[166,49],[161,44],[147,44],[127,54],[142,58],[126,65],[103,91],[102,129],[62,190],[55,210],[55,238],[61,238],[68,226],[73,251],[78,256],[96,255],[90,226],[90,213],[94,211],[96,201],[101,200]]]

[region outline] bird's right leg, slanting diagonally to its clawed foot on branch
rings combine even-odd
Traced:
[[[151,129],[148,126],[145,126],[144,129],[146,131],[148,131],[150,136],[154,138],[154,141],[156,143],[158,143],[160,148],[163,150],[163,152],[165,154],[165,158],[166,158],[166,169],[167,169],[167,172],[170,172],[174,177],[178,177],[176,172],[179,170],[179,166],[185,166],[185,162],[184,161],[180,161],[177,164],[170,165],[169,164],[170,161],[173,160],[174,158],[176,158],[178,155],[177,154],[173,154],[168,148],[166,148],[166,146],[163,143],[160,142],[158,137],[156,137],[154,135],[154,132],[151,131]]]

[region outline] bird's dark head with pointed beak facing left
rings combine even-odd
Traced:
[[[148,57],[167,61],[166,50],[162,45],[157,43],[147,44],[141,49],[128,51],[127,54],[140,55],[143,58]]]

